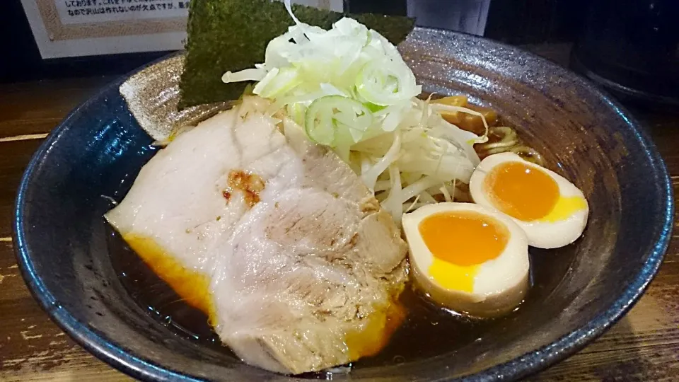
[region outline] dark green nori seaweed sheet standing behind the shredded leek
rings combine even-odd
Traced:
[[[300,21],[326,30],[344,16],[301,5],[294,5],[293,11]],[[368,13],[349,17],[377,30],[395,45],[414,27],[412,18],[402,16]],[[222,74],[264,62],[269,41],[293,24],[280,1],[192,0],[179,108],[238,99],[248,83],[223,83]]]

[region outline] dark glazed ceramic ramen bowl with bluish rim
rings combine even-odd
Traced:
[[[644,129],[579,76],[514,47],[418,28],[400,49],[425,91],[466,94],[573,180],[591,206],[584,236],[533,251],[534,286],[516,313],[478,338],[410,340],[446,351],[356,364],[334,380],[510,381],[555,364],[610,328],[656,274],[671,237],[673,195]],[[112,266],[102,215],[153,155],[118,87],[77,108],[42,145],[16,202],[23,277],[52,319],[96,357],[149,381],[293,381],[163,325]],[[401,339],[407,343],[409,339]],[[434,347],[436,345],[431,345]]]

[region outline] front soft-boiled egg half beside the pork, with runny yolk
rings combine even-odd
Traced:
[[[471,316],[518,306],[529,287],[528,239],[508,216],[471,203],[420,207],[402,218],[414,280],[434,301]]]

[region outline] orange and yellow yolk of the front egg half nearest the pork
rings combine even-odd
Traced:
[[[501,255],[509,241],[504,224],[472,211],[432,214],[418,230],[434,255],[429,275],[441,287],[458,291],[473,291],[480,265]]]

